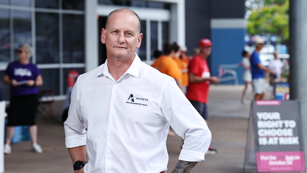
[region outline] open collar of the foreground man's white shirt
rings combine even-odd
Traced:
[[[139,71],[141,67],[141,59],[138,57],[136,53],[133,62],[131,63],[130,67],[126,71],[126,73],[131,74],[133,76],[139,77]],[[125,74],[126,74],[125,73]],[[108,59],[104,63],[103,70],[98,70],[98,73],[96,73],[96,76],[99,76],[103,74],[104,76],[110,75],[109,68],[108,68]]]

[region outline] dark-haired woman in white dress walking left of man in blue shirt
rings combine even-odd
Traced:
[[[247,87],[249,84],[251,84],[252,82],[252,77],[251,77],[251,62],[250,62],[250,54],[243,50],[242,51],[242,65],[243,65],[243,81],[244,81],[244,89],[243,89],[243,93],[242,93],[242,98],[241,98],[241,102],[244,103],[245,100],[245,93],[247,90]]]

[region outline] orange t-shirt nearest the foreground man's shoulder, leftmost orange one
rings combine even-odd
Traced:
[[[179,79],[182,83],[182,73],[175,60],[169,56],[161,55],[153,64],[153,68],[159,70],[161,73],[167,74],[174,79]]]

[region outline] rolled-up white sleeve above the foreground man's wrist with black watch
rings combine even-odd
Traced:
[[[71,93],[71,102],[68,118],[64,122],[65,145],[67,148],[86,145],[87,131],[83,118],[80,115],[80,93],[77,79]]]

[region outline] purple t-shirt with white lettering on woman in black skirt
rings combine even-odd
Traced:
[[[35,80],[37,76],[41,74],[37,66],[31,62],[29,64],[20,64],[18,61],[10,63],[9,66],[7,66],[5,73],[10,77],[10,79],[15,79],[17,82]],[[38,94],[36,86],[27,86],[26,84],[21,84],[16,87],[11,86],[12,96],[31,94]]]

